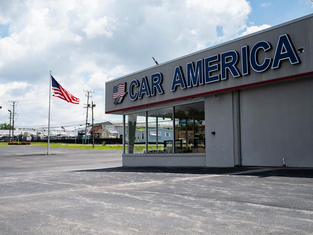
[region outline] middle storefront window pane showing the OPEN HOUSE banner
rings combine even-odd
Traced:
[[[148,111],[148,153],[173,153],[173,107]]]

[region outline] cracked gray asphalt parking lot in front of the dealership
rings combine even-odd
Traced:
[[[312,234],[313,169],[121,167],[117,150],[0,148],[0,234]]]

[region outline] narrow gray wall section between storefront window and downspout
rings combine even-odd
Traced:
[[[207,96],[205,105],[206,166],[234,166],[232,92]],[[211,132],[215,132],[212,135]]]

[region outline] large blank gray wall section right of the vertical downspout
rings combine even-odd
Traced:
[[[313,78],[240,92],[242,165],[313,167]]]

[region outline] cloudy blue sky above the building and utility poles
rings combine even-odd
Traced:
[[[84,123],[84,89],[95,91],[95,122],[121,121],[105,114],[105,81],[310,13],[311,0],[3,0],[0,123],[15,100],[16,126],[48,124],[49,70],[81,101],[52,97],[55,127]]]

